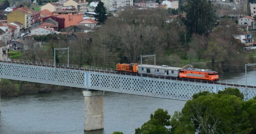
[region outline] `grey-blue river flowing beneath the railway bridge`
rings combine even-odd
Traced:
[[[247,84],[254,85],[256,71],[247,72]],[[220,80],[245,83],[245,73],[220,74]],[[1,97],[0,133],[134,133],[157,108],[170,115],[180,111],[186,101],[115,92],[104,93],[104,129],[84,132],[82,90]]]

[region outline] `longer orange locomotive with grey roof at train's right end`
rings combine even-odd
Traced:
[[[206,79],[211,81],[219,80],[218,73],[209,69],[180,69],[179,77],[196,78],[196,79]]]

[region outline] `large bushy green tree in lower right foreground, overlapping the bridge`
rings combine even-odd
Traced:
[[[241,97],[242,93],[233,88],[227,88],[218,94],[199,92],[185,103],[181,112],[174,113],[170,121],[171,132],[243,133],[244,130],[248,131],[248,112],[245,110],[247,108],[243,107]],[[247,107],[250,107],[250,104]],[[250,112],[250,114],[254,113]]]

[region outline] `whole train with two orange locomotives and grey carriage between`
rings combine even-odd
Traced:
[[[171,76],[179,78],[194,78],[217,81],[218,73],[210,69],[170,67],[168,65],[150,65],[138,63],[117,63],[117,71],[142,73],[148,75]]]

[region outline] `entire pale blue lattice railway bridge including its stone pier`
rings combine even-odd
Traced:
[[[245,99],[256,96],[256,87],[175,77],[140,75],[78,65],[33,61],[0,61],[0,78],[83,88],[84,130],[102,129],[103,91],[188,100],[194,93],[217,93],[236,87]]]

